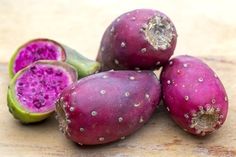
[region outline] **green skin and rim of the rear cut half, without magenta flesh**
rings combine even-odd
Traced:
[[[64,59],[65,59],[65,62],[72,65],[77,70],[78,78],[82,78],[82,77],[94,74],[100,70],[100,67],[101,67],[100,63],[90,60],[90,59],[82,56],[76,50],[69,48],[66,45],[62,45],[54,40],[46,39],[46,38],[38,38],[38,39],[30,40],[29,42],[39,41],[39,40],[46,40],[46,41],[54,42],[55,44],[58,44],[59,46],[61,46],[65,52],[65,55],[64,55],[65,58],[63,57],[62,61],[64,61]],[[29,43],[29,42],[27,42],[27,43]],[[25,46],[26,44],[24,44],[23,46]],[[21,46],[20,48],[22,48],[23,46]],[[15,62],[15,58],[16,58],[20,48],[18,48],[16,50],[16,52],[13,54],[13,56],[11,57],[10,63],[8,65],[8,71],[9,71],[10,78],[13,78],[15,75],[13,72],[13,63]]]

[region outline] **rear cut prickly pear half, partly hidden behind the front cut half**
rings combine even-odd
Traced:
[[[10,77],[12,78],[19,70],[38,60],[65,61],[76,68],[79,78],[100,69],[98,62],[89,60],[54,40],[42,38],[31,40],[16,50],[9,64]]]

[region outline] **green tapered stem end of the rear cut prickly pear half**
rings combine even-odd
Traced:
[[[83,78],[100,70],[100,63],[82,56],[68,46],[63,45],[63,48],[66,52],[66,62],[77,70],[78,78]]]

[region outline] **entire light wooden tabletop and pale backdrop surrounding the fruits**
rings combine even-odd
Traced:
[[[233,0],[0,0],[0,156],[1,157],[156,157],[236,156],[236,14]],[[48,37],[94,59],[108,24],[135,8],[156,8],[176,25],[175,55],[201,57],[220,76],[230,107],[224,126],[206,138],[193,137],[160,107],[152,119],[126,140],[80,147],[59,131],[54,117],[21,125],[9,114],[7,63],[25,41]]]

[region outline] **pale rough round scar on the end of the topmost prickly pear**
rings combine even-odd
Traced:
[[[143,25],[147,41],[156,49],[166,50],[174,37],[174,26],[164,15],[155,15]]]

